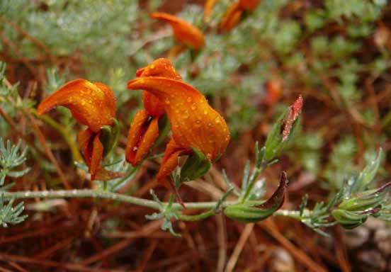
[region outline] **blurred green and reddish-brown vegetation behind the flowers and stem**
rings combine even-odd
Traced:
[[[226,169],[232,181],[239,185],[254,142],[265,140],[273,121],[299,94],[305,98],[302,131],[280,163],[263,173],[268,186],[275,188],[278,172],[288,172],[291,183],[285,208],[297,209],[306,193],[309,203],[327,200],[344,179],[375,157],[379,147],[386,155],[378,179],[387,180],[391,170],[388,1],[261,0],[237,27],[221,33],[217,26],[233,2],[216,1],[205,18],[204,1],[1,0],[0,60],[7,64],[9,83],[18,84],[13,94],[9,86],[1,86],[2,111],[18,120],[19,130],[36,142],[33,128],[21,113],[23,108],[34,107],[71,79],[103,82],[118,99],[123,133],[115,154],[123,156],[128,126],[141,98],[140,92],[126,90],[126,82],[135,77],[137,69],[166,56],[176,44],[171,28],[149,16],[153,11],[166,11],[205,33],[203,50],[185,50],[173,64],[183,80],[203,92],[227,119],[232,141],[216,167]],[[22,101],[11,103],[8,96]],[[58,108],[52,116],[76,137],[77,125],[69,111]],[[74,188],[86,186],[78,181],[74,154],[58,132],[40,126]],[[19,136],[4,118],[0,118],[0,137],[18,142]],[[39,152],[30,149],[26,162],[30,174],[18,179],[16,187],[59,188],[55,166],[43,158],[37,162],[37,158]],[[147,197],[156,169],[156,163],[148,162],[131,176],[132,184],[123,192]],[[203,182],[208,184],[216,175],[212,169]],[[214,190],[192,188],[185,198],[208,200],[215,196]],[[234,271],[307,271],[318,266],[329,271],[391,271],[391,232],[376,220],[348,234],[335,228],[334,238],[324,238],[287,219],[269,219],[249,229],[218,217],[179,224],[183,238],[173,240],[154,222],[145,225],[142,208],[107,203],[96,208],[84,200],[49,203],[43,208],[37,208],[37,203],[30,204],[30,219],[21,227],[0,230],[1,251],[53,263],[80,263],[80,269],[95,263],[102,271],[112,267],[215,271],[221,268],[222,259],[233,260]],[[55,225],[61,228],[54,231]],[[244,252],[236,256],[240,243],[239,253]],[[0,260],[4,261],[1,256]],[[33,266],[31,259],[26,263],[26,267],[43,267],[42,263]],[[60,271],[55,267],[45,265],[47,271]],[[16,266],[12,269],[22,271]]]

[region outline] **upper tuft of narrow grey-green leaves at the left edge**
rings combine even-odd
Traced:
[[[4,184],[6,176],[18,178],[30,171],[28,167],[23,170],[15,169],[26,161],[28,149],[25,148],[20,152],[21,144],[21,140],[19,140],[18,145],[11,145],[10,140],[7,140],[6,145],[4,145],[3,139],[0,137],[0,186]]]

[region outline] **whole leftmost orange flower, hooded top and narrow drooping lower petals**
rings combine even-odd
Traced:
[[[69,108],[73,117],[88,127],[79,132],[77,140],[89,166],[91,180],[94,180],[103,157],[103,145],[99,140],[101,128],[104,125],[112,125],[115,116],[113,91],[102,83],[75,79],[45,98],[38,106],[38,115],[56,106]]]

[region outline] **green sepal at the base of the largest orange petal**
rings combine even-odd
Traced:
[[[187,159],[185,164],[181,167],[181,181],[193,181],[203,176],[212,165],[210,159],[195,147],[191,147],[193,154]]]

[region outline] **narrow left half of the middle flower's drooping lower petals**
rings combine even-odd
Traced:
[[[136,166],[136,154],[138,151],[138,144],[143,135],[142,127],[149,118],[149,114],[145,110],[137,111],[135,117],[130,124],[128,132],[128,142],[126,143],[125,158],[132,166]]]

